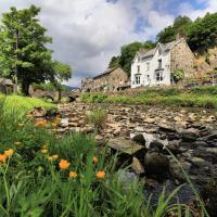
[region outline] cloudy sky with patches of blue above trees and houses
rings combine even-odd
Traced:
[[[72,66],[73,87],[104,72],[123,44],[155,40],[178,15],[195,20],[217,12],[217,0],[0,0],[0,15],[30,4],[41,8],[53,59]]]

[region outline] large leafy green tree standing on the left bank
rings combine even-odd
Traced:
[[[21,84],[24,94],[33,82],[41,82],[53,77],[52,51],[46,46],[51,37],[46,35],[37,18],[39,8],[16,10],[11,8],[2,15],[0,23],[0,72]]]

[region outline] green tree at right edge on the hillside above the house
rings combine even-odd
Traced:
[[[188,43],[193,51],[201,52],[217,46],[217,13],[207,13],[191,25]]]

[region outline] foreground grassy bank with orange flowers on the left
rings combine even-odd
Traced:
[[[190,207],[170,204],[178,189],[170,196],[163,193],[152,208],[142,183],[124,176],[125,168],[115,170],[116,157],[106,149],[99,153],[91,136],[58,137],[24,113],[17,118],[15,107],[24,112],[34,105],[26,105],[29,99],[15,99],[15,104],[0,99],[0,216],[193,216]],[[58,122],[56,117],[51,126]]]

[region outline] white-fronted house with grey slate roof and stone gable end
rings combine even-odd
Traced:
[[[157,43],[149,51],[140,50],[131,63],[131,88],[169,86],[176,69],[183,69],[186,77],[193,74],[193,61],[194,55],[184,38]]]

